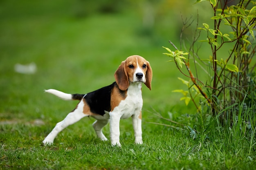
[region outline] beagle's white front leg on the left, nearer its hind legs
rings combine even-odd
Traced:
[[[120,115],[115,112],[110,112],[110,139],[112,146],[121,146],[119,137],[120,137]]]

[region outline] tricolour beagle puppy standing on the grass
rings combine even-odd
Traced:
[[[43,144],[53,144],[56,135],[67,126],[83,117],[96,119],[92,124],[97,136],[108,140],[102,128],[110,120],[110,139],[113,146],[121,146],[119,141],[120,119],[132,117],[135,144],[142,144],[141,130],[141,87],[144,83],[151,90],[152,69],[148,61],[139,55],[132,55],[115,71],[115,82],[87,94],[67,94],[54,89],[45,90],[64,100],[80,100],[76,108],[63,121],[56,124],[52,132],[43,140]]]

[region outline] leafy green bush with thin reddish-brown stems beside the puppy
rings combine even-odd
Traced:
[[[197,21],[193,40],[189,46],[184,45],[187,53],[170,41],[175,51],[164,47],[168,51],[164,54],[173,57],[178,70],[190,79],[186,81],[180,78],[188,86],[186,91],[175,90],[184,95],[181,99],[186,104],[192,101],[198,110],[200,105],[206,103],[211,114],[218,115],[224,123],[227,119],[232,119],[230,112],[239,108],[241,103],[243,109],[256,104],[256,46],[253,44],[256,2],[240,0],[238,4],[231,5],[229,0],[197,0],[196,3],[203,1],[211,6],[211,21],[202,26]],[[199,13],[198,16],[200,15]],[[180,44],[184,43],[182,33],[191,26],[189,20],[183,23]],[[200,54],[200,43],[207,43],[202,45],[208,48],[209,58]],[[188,73],[185,73],[182,65]],[[202,72],[205,74],[200,74]],[[204,78],[205,75],[208,79]]]

